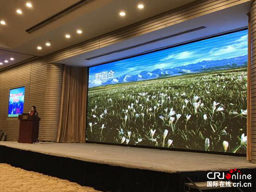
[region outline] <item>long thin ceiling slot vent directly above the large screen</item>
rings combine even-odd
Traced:
[[[148,42],[145,42],[145,43],[141,43],[141,44],[138,44],[138,45],[135,45],[135,46],[129,46],[129,47],[125,47],[125,48],[118,49],[118,50],[115,50],[115,51],[111,51],[111,52],[108,52],[108,53],[103,53],[103,54],[100,54],[100,55],[96,55],[94,57],[89,57],[89,58],[86,58],[85,60],[94,60],[94,59],[97,59],[99,57],[107,56],[107,55],[110,55],[110,54],[113,54],[113,53],[119,53],[119,52],[122,52],[122,51],[127,51],[129,49],[133,49],[133,48],[136,48],[136,47],[139,47],[139,46],[148,45],[148,44],[151,44],[151,43],[155,43],[157,41],[166,40],[166,39],[169,39],[169,38],[172,38],[172,37],[176,37],[176,36],[183,35],[183,34],[186,34],[186,33],[191,33],[191,32],[194,32],[194,31],[201,30],[201,29],[205,29],[205,28],[206,28],[205,26],[200,26],[200,27],[197,27],[197,28],[194,28],[194,29],[190,29],[190,30],[187,30],[187,31],[183,31],[181,33],[175,33],[175,34],[172,34],[172,35],[161,37],[161,38],[151,40],[151,41],[148,41]],[[146,53],[146,52],[143,52],[143,53]]]

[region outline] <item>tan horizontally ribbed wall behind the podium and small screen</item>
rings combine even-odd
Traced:
[[[29,63],[0,72],[0,129],[7,141],[17,141],[18,118],[7,118],[9,89],[25,86],[24,112],[37,107],[40,121],[39,139],[56,141],[62,86],[63,65]]]

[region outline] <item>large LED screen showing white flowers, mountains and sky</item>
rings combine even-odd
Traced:
[[[86,140],[246,153],[247,33],[90,67]]]

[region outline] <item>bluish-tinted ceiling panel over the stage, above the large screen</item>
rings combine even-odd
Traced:
[[[191,40],[197,40],[219,33],[233,31],[239,28],[246,28],[248,26],[248,13],[250,10],[250,2],[243,3],[234,7],[229,7],[221,11],[210,13],[192,20],[188,20],[173,26],[169,26],[151,33],[147,33],[129,40],[121,41],[114,45],[106,46],[94,51],[83,53],[74,57],[58,61],[58,63],[73,65],[73,66],[94,66],[97,64],[119,60],[136,54],[147,53],[162,47],[178,45]],[[176,37],[159,40],[154,43],[137,46],[135,48],[127,49],[128,47],[147,43],[148,41],[160,39],[173,34],[185,32],[187,30],[198,27],[206,27],[191,33],[182,34]],[[115,50],[126,49],[125,51]],[[108,54],[111,53],[111,54]],[[105,56],[101,56],[104,54]],[[95,59],[87,60],[88,58]]]

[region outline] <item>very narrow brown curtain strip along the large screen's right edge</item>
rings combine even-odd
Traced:
[[[251,160],[251,37],[250,37],[250,13],[248,20],[248,61],[247,61],[247,160]]]

